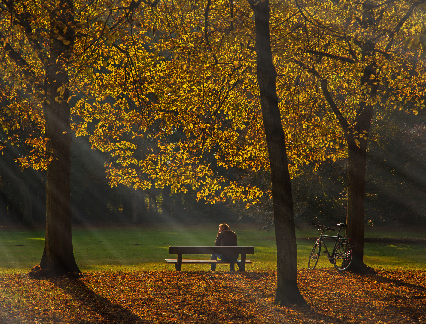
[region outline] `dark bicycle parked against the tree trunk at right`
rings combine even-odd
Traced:
[[[340,235],[340,231],[342,230],[342,228],[345,229],[347,225],[343,223],[337,224],[337,226],[339,226],[339,232],[337,233],[337,236],[324,235],[325,230],[334,231],[334,229],[330,227],[314,224],[314,223],[312,223],[312,226],[319,227],[319,230],[322,230],[322,232],[320,234],[320,238],[317,239],[317,242],[315,242],[315,245],[312,248],[311,255],[309,256],[309,260],[308,260],[308,269],[313,270],[317,266],[318,260],[320,259],[322,244],[324,244],[324,248],[325,248],[324,253],[327,254],[328,261],[330,261],[331,264],[334,264],[334,267],[336,268],[336,270],[344,271],[348,269],[352,261],[352,247],[349,244],[351,240],[346,237],[346,230],[345,230],[344,236]],[[328,253],[328,250],[327,250],[327,247],[325,246],[323,238],[336,239],[336,241],[334,242],[334,249],[333,249],[333,252],[331,253],[331,256],[330,256],[330,253]],[[311,267],[311,262],[314,262],[314,265],[312,267]]]

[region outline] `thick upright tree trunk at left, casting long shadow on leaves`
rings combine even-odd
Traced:
[[[48,93],[43,104],[46,119],[46,152],[52,161],[46,170],[46,239],[40,266],[54,274],[80,272],[74,259],[71,236],[71,126],[69,79],[65,71],[74,42],[72,28],[62,33],[58,23],[72,21],[73,4],[61,1],[59,11],[52,10],[50,33]],[[56,14],[59,13],[57,16]],[[61,34],[69,44],[58,40]],[[61,88],[63,87],[63,88]],[[61,89],[58,91],[58,89]]]

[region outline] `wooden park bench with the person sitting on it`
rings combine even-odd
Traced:
[[[193,264],[230,264],[231,271],[233,265],[239,264],[240,271],[245,270],[247,263],[253,263],[246,259],[247,254],[254,254],[254,246],[170,246],[169,254],[177,254],[177,259],[166,259],[167,263],[174,263],[176,271],[182,270],[182,263]],[[241,254],[241,259],[237,261],[222,261],[222,260],[182,260],[183,254],[222,254],[222,255],[237,255]]]

